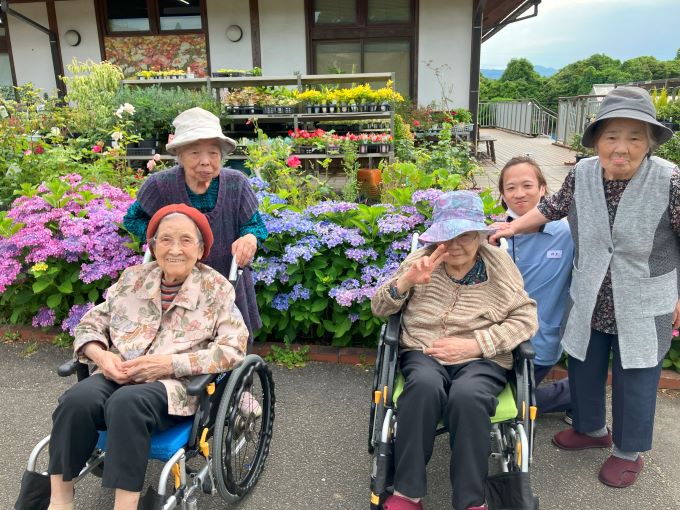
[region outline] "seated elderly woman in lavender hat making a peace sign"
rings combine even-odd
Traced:
[[[401,311],[398,363],[404,378],[393,494],[384,501],[374,494],[374,508],[423,508],[440,420],[450,432],[453,507],[486,508],[490,418],[508,381],[513,349],[537,328],[535,302],[507,253],[486,243],[489,233],[477,194],[443,194],[420,238],[430,244],[409,255],[373,297],[376,316]],[[387,391],[389,382],[379,382],[376,393],[383,384]],[[387,401],[378,395],[376,403],[383,397]]]

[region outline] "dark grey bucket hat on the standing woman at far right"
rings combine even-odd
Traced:
[[[635,119],[646,122],[652,127],[659,145],[673,137],[673,131],[656,120],[652,98],[640,87],[617,87],[605,96],[595,120],[583,132],[581,143],[585,147],[593,148],[597,126],[606,119]]]

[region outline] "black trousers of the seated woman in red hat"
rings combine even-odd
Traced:
[[[59,397],[52,414],[51,475],[72,480],[107,430],[102,485],[140,492],[148,462],[151,434],[184,417],[168,414],[168,397],[160,382],[121,386],[101,374],[83,379]]]

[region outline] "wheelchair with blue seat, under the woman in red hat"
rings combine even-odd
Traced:
[[[148,260],[147,252],[145,262]],[[234,286],[240,272],[232,264],[229,281]],[[61,377],[76,374],[81,381],[90,375],[90,369],[78,361],[69,361],[61,365],[57,373]],[[140,498],[138,508],[141,510],[195,510],[200,492],[217,493],[225,503],[233,504],[255,486],[264,468],[272,439],[276,397],[271,370],[261,357],[250,354],[233,370],[195,376],[187,386],[187,393],[199,397],[196,414],[151,437],[149,459],[161,461],[164,466],[158,490],[150,486]],[[246,393],[259,402],[261,415],[246,416],[240,411],[241,399]],[[29,456],[19,496],[22,504],[16,508],[40,510],[29,493],[31,486],[44,490],[47,483],[49,499],[49,478],[37,469],[38,458],[49,440],[50,436],[45,437]],[[188,465],[192,459],[197,459],[192,464],[198,463],[199,468]],[[105,464],[106,431],[101,431],[90,459],[75,478],[76,483],[88,473],[101,477]],[[172,493],[167,494],[170,483]],[[47,504],[42,508],[47,508]]]

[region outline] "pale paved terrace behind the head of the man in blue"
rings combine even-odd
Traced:
[[[480,135],[492,136],[496,139],[496,163],[482,157],[479,164],[481,170],[475,175],[477,185],[482,188],[498,189],[498,174],[505,163],[515,156],[530,156],[536,160],[546,181],[548,189],[555,192],[560,189],[562,181],[574,166],[576,153],[558,145],[554,145],[549,138],[531,138],[500,129],[480,129]],[[484,153],[484,144],[479,144],[479,150]]]

